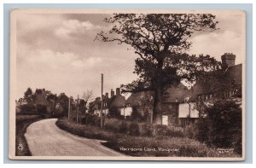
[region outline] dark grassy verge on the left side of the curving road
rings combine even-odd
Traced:
[[[15,155],[31,156],[26,137],[26,128],[32,123],[41,120],[42,116],[38,114],[16,114],[16,137],[15,137]]]

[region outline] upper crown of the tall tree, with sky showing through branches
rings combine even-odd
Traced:
[[[104,20],[113,28],[96,38],[130,44],[143,59],[160,61],[189,49],[193,32],[215,30],[218,21],[214,19],[212,14],[114,14]]]

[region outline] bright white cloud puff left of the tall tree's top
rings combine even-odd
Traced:
[[[60,38],[69,38],[72,34],[84,34],[86,31],[100,28],[102,27],[93,25],[90,21],[63,20],[62,25],[55,30],[55,35]]]

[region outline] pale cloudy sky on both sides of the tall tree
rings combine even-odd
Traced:
[[[213,13],[214,14],[214,13]],[[45,88],[59,95],[82,96],[92,90],[104,93],[137,78],[133,74],[138,55],[129,45],[103,43],[97,32],[107,32],[111,24],[103,22],[110,14],[19,14],[17,17],[17,94],[28,87]],[[245,58],[241,14],[216,14],[218,31],[195,33],[188,53],[211,55],[220,61],[224,53],[236,55],[236,64]]]

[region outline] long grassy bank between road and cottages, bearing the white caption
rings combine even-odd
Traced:
[[[58,119],[56,125],[78,136],[106,140],[103,145],[130,156],[241,157],[232,152],[221,153],[217,148],[186,137],[129,136],[92,125],[75,124],[67,119]]]

